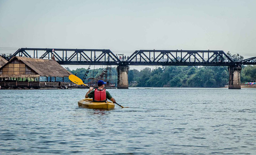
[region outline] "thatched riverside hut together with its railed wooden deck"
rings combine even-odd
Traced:
[[[15,56],[7,63],[2,59],[1,62],[5,63],[0,66],[1,89],[68,89],[77,86],[64,82],[64,77],[71,73],[55,60]],[[42,81],[45,78],[41,77],[46,80]],[[56,81],[56,77],[62,77],[62,81]]]

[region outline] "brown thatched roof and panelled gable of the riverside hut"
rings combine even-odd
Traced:
[[[27,57],[13,57],[9,62],[1,66],[0,77],[67,77],[70,72],[64,69],[55,60],[34,59]]]

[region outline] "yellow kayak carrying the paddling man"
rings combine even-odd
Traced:
[[[114,109],[115,104],[112,102],[92,102],[92,99],[83,99],[78,101],[78,106],[82,108],[88,108],[88,109]]]

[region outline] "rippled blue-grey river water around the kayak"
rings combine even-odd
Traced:
[[[256,154],[256,89],[0,90],[0,154]]]

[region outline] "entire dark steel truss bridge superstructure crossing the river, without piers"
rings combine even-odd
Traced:
[[[42,54],[42,55],[41,55]],[[39,56],[38,56],[39,55]],[[237,66],[256,65],[256,57],[242,61],[232,60],[223,51],[211,50],[138,50],[119,59],[106,49],[42,49],[20,48],[13,56],[54,59],[62,65],[184,65],[184,66]]]

